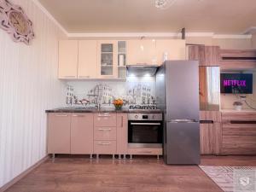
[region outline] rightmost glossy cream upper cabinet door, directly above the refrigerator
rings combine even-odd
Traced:
[[[157,64],[161,65],[164,61],[164,54],[168,60],[185,60],[186,43],[182,39],[162,39],[156,40]]]

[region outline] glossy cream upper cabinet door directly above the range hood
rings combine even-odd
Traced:
[[[127,65],[157,64],[154,39],[127,41]]]

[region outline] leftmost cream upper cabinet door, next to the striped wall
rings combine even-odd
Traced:
[[[59,78],[76,79],[78,76],[79,43],[76,40],[59,41]]]

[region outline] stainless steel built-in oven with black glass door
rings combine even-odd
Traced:
[[[162,148],[162,113],[129,113],[129,148]]]

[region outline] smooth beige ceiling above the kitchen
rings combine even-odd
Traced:
[[[256,0],[38,0],[67,32],[215,32],[241,34],[256,26]]]

